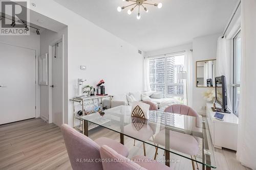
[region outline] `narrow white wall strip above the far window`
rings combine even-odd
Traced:
[[[157,56],[157,55],[168,54],[168,53],[176,53],[180,51],[191,50],[192,47],[193,47],[192,43],[187,43],[183,45],[163,48],[160,50],[145,52],[145,56],[150,57],[150,56]]]

